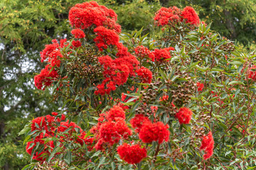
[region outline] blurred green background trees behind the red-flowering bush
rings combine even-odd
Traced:
[[[85,0],[0,1],[0,167],[28,164],[17,133],[33,117],[58,108],[51,91],[38,91],[33,77],[43,68],[39,52],[53,38],[68,38],[68,11]],[[154,13],[161,6],[192,6],[201,21],[235,41],[243,51],[255,50],[256,0],[99,0],[114,9],[124,32],[154,32]]]

